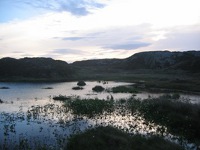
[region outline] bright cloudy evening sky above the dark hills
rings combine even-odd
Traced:
[[[0,58],[200,50],[199,0],[0,0]]]

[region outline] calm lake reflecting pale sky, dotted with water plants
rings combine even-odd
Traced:
[[[37,148],[43,144],[48,149],[60,149],[71,134],[97,125],[112,125],[134,133],[156,134],[160,126],[146,125],[140,116],[131,115],[128,111],[114,111],[90,118],[74,115],[71,110],[63,107],[62,102],[53,100],[58,95],[105,100],[113,97],[116,101],[133,96],[130,93],[93,92],[92,88],[96,85],[110,89],[132,83],[88,81],[83,90],[72,90],[77,82],[0,83],[0,87],[4,87],[0,89],[0,99],[3,101],[0,103],[0,149],[13,149],[16,146]],[[141,92],[134,97],[142,100],[162,94]],[[181,94],[181,98],[190,99],[193,103],[200,102],[199,95]]]

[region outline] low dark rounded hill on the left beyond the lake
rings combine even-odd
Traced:
[[[73,70],[68,63],[51,58],[2,58],[1,80],[69,80]]]

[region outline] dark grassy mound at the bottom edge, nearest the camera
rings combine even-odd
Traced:
[[[67,150],[183,150],[160,137],[130,136],[113,127],[97,127],[68,139]]]

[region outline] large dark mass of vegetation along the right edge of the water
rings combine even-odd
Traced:
[[[130,99],[132,113],[139,111],[146,120],[167,127],[169,133],[200,143],[200,105],[182,102],[176,95],[143,101]]]

